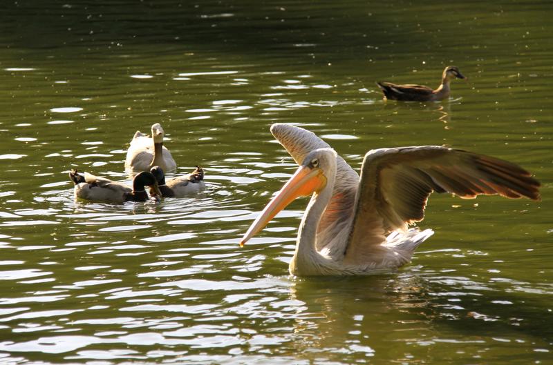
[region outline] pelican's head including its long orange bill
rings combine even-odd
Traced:
[[[336,152],[332,148],[319,148],[309,152],[290,180],[254,220],[240,241],[240,246],[244,246],[247,240],[262,230],[277,213],[297,197],[320,193],[326,187],[326,175],[336,173],[336,157]]]

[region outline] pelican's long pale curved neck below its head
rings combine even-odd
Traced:
[[[292,275],[320,275],[321,266],[326,261],[326,258],[317,251],[317,227],[332,197],[335,184],[336,166],[332,166],[329,170],[325,171],[326,186],[319,193],[312,195],[306,213],[301,219],[296,250],[289,267]]]

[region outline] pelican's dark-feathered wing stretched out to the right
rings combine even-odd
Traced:
[[[465,199],[498,194],[538,200],[539,186],[520,166],[472,152],[441,146],[371,150],[363,161],[346,255],[380,244],[368,239],[375,234],[421,221],[433,191]]]

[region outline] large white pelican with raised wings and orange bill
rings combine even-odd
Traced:
[[[240,244],[296,197],[311,195],[290,261],[295,276],[386,273],[410,262],[433,235],[408,228],[423,219],[433,191],[540,199],[529,172],[494,157],[442,146],[381,148],[366,153],[359,177],[314,133],[288,124],[273,124],[271,132],[299,168]]]

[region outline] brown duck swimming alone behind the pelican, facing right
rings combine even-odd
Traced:
[[[391,82],[377,82],[384,97],[402,101],[439,101],[449,97],[449,83],[453,79],[467,79],[456,66],[447,66],[442,73],[442,83],[436,90],[422,85],[396,85]]]

